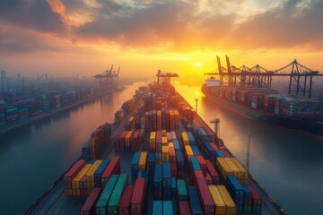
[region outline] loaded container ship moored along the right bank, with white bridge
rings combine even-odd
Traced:
[[[207,99],[266,123],[323,136],[323,99],[283,96],[276,90],[223,86],[214,77],[202,86]]]

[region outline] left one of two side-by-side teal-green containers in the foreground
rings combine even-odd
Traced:
[[[100,195],[99,201],[95,205],[95,212],[97,215],[107,214],[106,208],[107,208],[107,205],[109,202],[109,198],[111,196],[111,193],[112,193],[115,185],[117,184],[117,181],[118,181],[118,175],[113,175],[113,176],[109,177],[109,182],[105,186],[103,192]]]

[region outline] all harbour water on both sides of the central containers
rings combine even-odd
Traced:
[[[106,122],[139,83],[122,92],[62,112],[34,125],[0,136],[0,214],[22,214],[77,159],[90,133]],[[205,99],[200,87],[174,86],[210,124],[221,120],[220,136],[231,152],[246,163],[251,135],[250,173],[287,214],[323,211],[323,142],[288,129],[258,122]]]

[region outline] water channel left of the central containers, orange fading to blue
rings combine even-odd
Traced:
[[[138,84],[0,135],[0,214],[22,214],[82,154],[98,126],[114,120]]]

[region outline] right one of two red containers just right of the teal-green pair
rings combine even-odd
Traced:
[[[130,211],[132,215],[141,215],[144,210],[144,178],[135,179],[134,193],[130,202]]]

